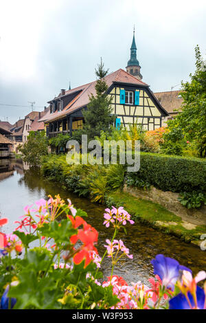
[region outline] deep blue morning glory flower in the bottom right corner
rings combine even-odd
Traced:
[[[183,293],[179,293],[177,296],[175,296],[169,301],[170,309],[194,309],[195,303],[194,303],[192,294],[188,292],[187,296],[189,298],[190,304],[188,303],[187,298],[185,298],[185,295],[183,295]],[[206,298],[205,292],[201,287],[197,286],[196,299],[197,299],[198,309],[204,309],[205,298]]]

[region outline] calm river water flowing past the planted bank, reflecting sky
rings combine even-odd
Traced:
[[[25,166],[27,168],[27,166]],[[4,171],[0,170],[0,212],[7,216],[10,222],[3,227],[4,232],[14,230],[13,221],[23,214],[25,205],[47,198],[48,194],[60,194],[63,199],[68,197],[76,208],[81,208],[88,214],[87,222],[99,232],[98,250],[104,253],[106,238],[110,238],[112,230],[106,229],[103,223],[104,206],[91,203],[88,199],[79,198],[71,192],[62,189],[57,183],[49,182],[41,177],[37,170],[25,170],[22,161],[10,161]],[[182,265],[190,267],[194,273],[206,270],[206,252],[192,245],[181,242],[178,238],[157,232],[146,225],[135,223],[127,225],[128,235],[120,232],[120,237],[130,249],[134,259],[123,258],[116,267],[114,274],[124,276],[128,282],[142,280],[146,282],[152,274],[150,260],[156,254],[176,258]],[[110,274],[110,259],[104,262],[104,275]]]

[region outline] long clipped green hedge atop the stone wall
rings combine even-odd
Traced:
[[[126,181],[149,182],[163,191],[206,191],[206,160],[152,153],[141,153],[139,172],[128,172]]]

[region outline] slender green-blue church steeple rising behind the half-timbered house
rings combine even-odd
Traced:
[[[135,76],[135,78],[138,78],[138,80],[141,80],[142,76],[140,73],[140,69],[141,69],[141,66],[139,65],[139,60],[137,60],[137,47],[135,43],[135,26],[134,26],[133,43],[130,48],[130,60],[128,60],[126,71],[131,75]]]

